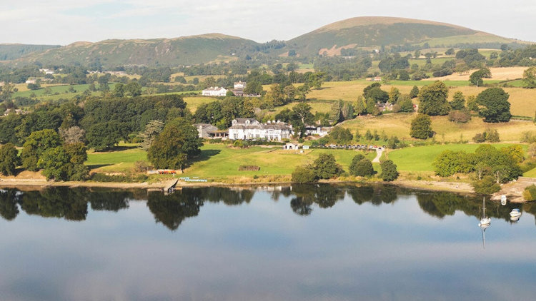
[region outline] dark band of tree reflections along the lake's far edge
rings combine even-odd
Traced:
[[[14,220],[23,210],[28,215],[66,220],[85,220],[88,203],[91,210],[117,212],[129,208],[131,200],[147,200],[147,207],[157,223],[170,230],[177,230],[182,221],[199,215],[204,203],[241,205],[249,203],[257,191],[267,193],[274,201],[289,198],[289,205],[297,215],[311,215],[314,210],[331,208],[345,196],[362,205],[382,205],[396,202],[399,196],[415,195],[420,208],[436,218],[445,218],[462,211],[466,215],[480,218],[481,198],[447,192],[423,192],[392,185],[292,185],[292,187],[255,188],[183,188],[171,195],[146,190],[110,190],[88,188],[47,188],[21,192],[16,189],[0,190],[0,215],[5,220]],[[510,221],[512,208],[522,208],[525,213],[536,215],[536,205],[490,202],[486,213],[490,218]]]

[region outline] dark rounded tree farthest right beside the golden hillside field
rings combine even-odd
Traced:
[[[484,122],[508,122],[510,121],[510,95],[502,88],[487,88],[477,96],[477,104],[484,106],[480,108],[480,116],[484,117]]]

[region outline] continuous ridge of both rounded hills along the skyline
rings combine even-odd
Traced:
[[[15,63],[177,66],[231,61],[262,51],[271,56],[335,56],[346,50],[371,50],[382,46],[451,47],[460,44],[518,44],[507,39],[462,26],[394,17],[367,16],[337,21],[284,42],[284,47],[263,48],[264,44],[224,34],[203,34],[174,39],[105,40],[76,42],[50,47],[16,58]],[[0,46],[1,50],[1,46]],[[1,52],[0,52],[1,53]],[[11,58],[13,59],[13,58]]]

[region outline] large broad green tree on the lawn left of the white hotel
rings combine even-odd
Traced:
[[[177,118],[154,139],[147,158],[156,168],[182,170],[190,158],[201,153],[202,145],[197,129],[184,118]]]

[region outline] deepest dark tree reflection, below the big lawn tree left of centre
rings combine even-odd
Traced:
[[[199,208],[203,205],[200,191],[200,189],[192,189],[188,193],[177,191],[171,195],[149,193],[147,207],[157,223],[164,224],[170,230],[177,230],[185,218],[199,214]]]

